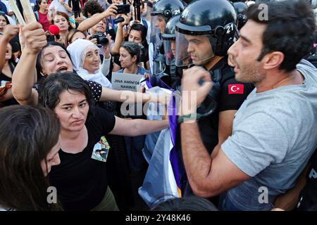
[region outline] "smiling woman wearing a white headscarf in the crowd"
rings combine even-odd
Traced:
[[[108,75],[110,60],[104,59],[100,64],[99,48],[85,39],[77,39],[67,47],[73,68],[82,79],[98,82],[101,86],[112,88]]]

